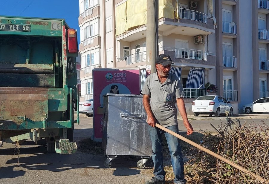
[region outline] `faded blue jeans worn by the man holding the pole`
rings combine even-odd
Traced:
[[[173,125],[166,128],[178,134],[178,125]],[[179,139],[165,131],[160,130],[159,128],[149,126],[149,137],[152,142],[152,160],[154,163],[153,174],[158,180],[163,180],[166,174],[163,169],[163,134],[166,137],[171,155],[172,166],[175,174],[174,183],[186,184],[187,180],[184,179],[184,162]]]

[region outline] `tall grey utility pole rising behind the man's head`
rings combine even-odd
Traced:
[[[159,0],[147,0],[146,75],[156,72],[159,55]]]

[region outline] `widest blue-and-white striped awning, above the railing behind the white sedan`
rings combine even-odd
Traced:
[[[204,88],[204,68],[192,67],[189,70],[186,88]]]

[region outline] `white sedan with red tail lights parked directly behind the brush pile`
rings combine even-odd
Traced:
[[[199,96],[192,102],[194,116],[199,116],[199,114],[212,116],[214,114],[218,117],[220,114],[225,114],[225,111],[228,111],[230,116],[233,115],[233,106],[222,96]]]

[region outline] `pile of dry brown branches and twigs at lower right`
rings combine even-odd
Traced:
[[[215,128],[218,134],[204,132],[201,145],[237,165],[269,180],[269,127],[261,121],[251,126],[241,125],[238,119]],[[212,125],[213,126],[213,125]],[[229,164],[197,148],[188,151],[188,183],[262,184]]]

